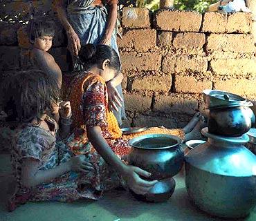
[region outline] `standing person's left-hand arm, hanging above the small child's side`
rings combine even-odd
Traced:
[[[66,30],[66,34],[68,36],[68,48],[71,50],[71,53],[73,55],[77,56],[78,51],[81,49],[80,39],[67,19],[66,9],[64,8],[64,1],[53,0],[53,6],[57,12],[57,17],[59,18],[62,26]]]

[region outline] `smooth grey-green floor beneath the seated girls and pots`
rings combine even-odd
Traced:
[[[105,193],[102,200],[98,201],[29,202],[12,213],[8,213],[5,204],[8,185],[11,180],[9,155],[0,154],[0,221],[221,220],[202,213],[189,202],[183,175],[175,177],[176,189],[174,194],[170,200],[163,203],[139,202],[126,191],[111,191]],[[256,207],[245,220],[256,220]]]

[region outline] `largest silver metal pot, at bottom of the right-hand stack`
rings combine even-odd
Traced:
[[[185,156],[185,186],[203,211],[242,218],[256,204],[256,157],[245,146],[248,135],[221,137],[203,128],[208,142]]]

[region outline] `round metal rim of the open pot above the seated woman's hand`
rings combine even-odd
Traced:
[[[147,147],[143,147],[143,146],[136,146],[136,142],[140,141],[140,140],[144,140],[147,138],[153,138],[153,137],[167,137],[167,138],[171,138],[173,140],[176,141],[176,144],[173,144],[171,146],[163,146],[163,147],[157,147],[157,148],[147,148]],[[174,146],[179,146],[181,144],[181,138],[179,138],[178,136],[175,135],[168,135],[168,134],[162,134],[162,133],[153,133],[153,134],[147,134],[147,135],[141,135],[138,137],[135,137],[131,140],[128,141],[128,144],[134,148],[139,148],[139,149],[143,149],[143,150],[163,150],[163,149],[167,149],[167,148],[172,148]]]

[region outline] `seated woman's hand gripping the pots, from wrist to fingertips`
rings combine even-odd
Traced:
[[[151,173],[137,166],[127,166],[123,177],[127,181],[129,189],[134,191],[134,193],[144,195],[158,182],[157,180],[147,181],[140,178],[140,176],[150,177],[150,175]]]

